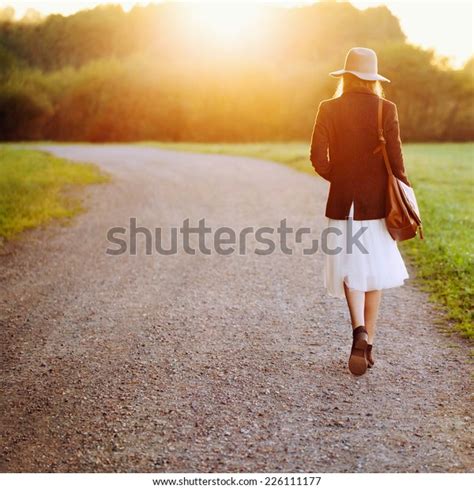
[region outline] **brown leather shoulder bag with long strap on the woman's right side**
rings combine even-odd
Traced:
[[[385,223],[390,236],[397,241],[414,238],[417,231],[419,231],[420,239],[423,239],[423,228],[415,193],[411,187],[393,174],[388,160],[386,141],[383,135],[382,107],[383,100],[379,98],[377,117],[379,145],[374,149],[374,153],[382,151],[388,173]]]

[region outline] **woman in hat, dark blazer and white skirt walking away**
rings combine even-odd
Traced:
[[[362,375],[374,365],[372,345],[382,289],[403,285],[407,269],[385,224],[387,169],[379,144],[377,110],[382,98],[377,55],[349,50],[333,98],[318,107],[310,159],[330,182],[326,217],[324,285],[346,298],[352,322],[349,370]],[[397,107],[383,100],[383,132],[393,174],[410,185],[401,149]],[[352,239],[351,239],[352,236]],[[353,244],[352,249],[349,246]]]

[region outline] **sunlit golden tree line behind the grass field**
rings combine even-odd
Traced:
[[[199,6],[100,6],[13,21],[0,10],[0,138],[271,141],[310,136],[329,71],[376,50],[406,141],[474,139],[474,60],[407,42],[386,7],[265,6],[232,42]],[[8,15],[7,15],[8,14]]]

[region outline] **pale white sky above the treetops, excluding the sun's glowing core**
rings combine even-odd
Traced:
[[[215,2],[222,4],[225,0]],[[229,0],[235,4],[235,0]],[[146,5],[159,1],[136,0],[10,0],[1,1],[0,7],[12,6],[16,17],[21,18],[28,8],[33,8],[43,14],[70,14],[84,8],[94,7],[101,3],[121,4],[125,10],[135,4]],[[199,1],[197,0],[197,2]],[[207,2],[209,3],[209,2]],[[287,6],[315,3],[315,0],[249,0],[239,2],[273,3]],[[451,64],[460,67],[473,54],[473,2],[469,0],[429,1],[429,0],[387,0],[370,1],[354,0],[354,6],[365,9],[369,6],[387,5],[400,19],[403,31],[408,40],[426,48],[434,48],[437,53],[450,58]],[[247,5],[248,6],[248,5]],[[232,9],[234,10],[234,9]]]

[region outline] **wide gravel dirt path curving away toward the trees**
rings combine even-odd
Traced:
[[[317,232],[325,182],[249,158],[48,149],[115,178],[72,226],[0,257],[1,471],[472,471],[467,347],[411,284],[385,294],[375,368],[355,379],[321,253],[105,254],[133,216]]]

